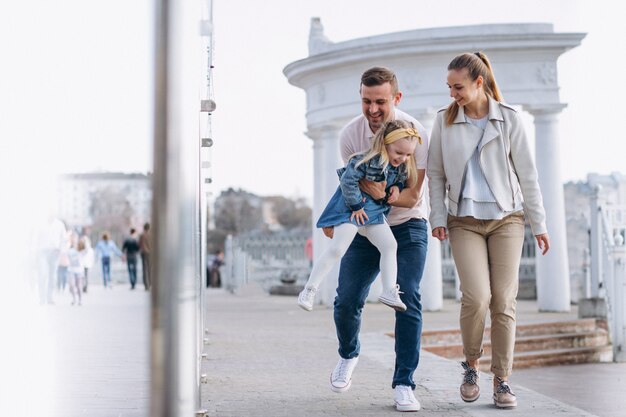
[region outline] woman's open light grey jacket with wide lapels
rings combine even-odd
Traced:
[[[484,135],[480,166],[496,202],[503,211],[513,211],[522,202],[533,234],[547,233],[537,169],[517,111],[489,97],[489,121],[483,132],[465,120],[462,106],[450,125],[445,110],[437,113],[428,149],[431,227],[447,227],[448,213],[457,215],[467,163]]]

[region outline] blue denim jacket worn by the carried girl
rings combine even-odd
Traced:
[[[400,165],[398,168],[393,167],[391,164],[387,164],[386,167],[380,166],[380,155],[375,156],[369,161],[362,163],[358,167],[356,164],[363,159],[364,153],[354,155],[348,161],[348,165],[337,170],[339,175],[339,186],[341,187],[341,194],[343,195],[346,204],[352,211],[358,211],[365,206],[363,197],[371,199],[378,204],[386,204],[385,199],[374,200],[369,194],[361,192],[359,188],[359,180],[365,178],[366,180],[374,182],[387,181],[389,177],[389,171],[396,173],[393,183],[387,184],[385,190],[388,192],[392,186],[397,186],[400,191],[404,188],[404,183],[407,179],[406,166]]]

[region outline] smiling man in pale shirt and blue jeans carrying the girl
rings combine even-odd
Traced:
[[[413,373],[419,362],[422,333],[422,305],[419,284],[424,271],[428,245],[426,207],[422,185],[426,173],[428,135],[413,117],[397,110],[402,98],[395,74],[387,68],[370,68],[361,76],[361,107],[363,114],[350,121],[340,133],[341,156],[344,163],[350,156],[370,147],[374,133],[388,120],[402,119],[415,125],[422,144],[415,150],[418,181],[402,190],[392,204],[388,222],[398,242],[397,281],[407,305],[404,312],[396,312],[395,351],[393,374],[394,402],[398,411],[418,411],[420,403],[413,390]],[[363,181],[361,189],[374,199],[385,197],[384,184]],[[325,229],[332,238],[332,228]],[[352,383],[352,372],[358,362],[361,313],[370,286],[379,272],[380,253],[369,240],[357,235],[344,255],[339,270],[339,285],[335,298],[335,327],[339,340],[339,362],[331,374],[331,389],[345,392]]]

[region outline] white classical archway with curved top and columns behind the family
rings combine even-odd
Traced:
[[[359,80],[367,68],[395,71],[403,92],[400,108],[428,130],[435,112],[450,102],[446,67],[463,52],[484,51],[496,72],[505,101],[520,105],[534,117],[535,154],[547,212],[552,249],[537,257],[537,298],[540,310],[570,309],[565,210],[560,169],[558,115],[566,106],[559,99],[557,59],[580,45],[584,33],[555,33],[551,24],[489,24],[389,33],[333,43],[324,36],[319,18],[311,21],[309,57],[284,69],[289,82],[306,91],[307,135],[313,140],[316,220],[337,187],[341,166],[338,133],[359,114]],[[422,284],[426,309],[441,305],[439,245],[431,240]],[[326,240],[314,233],[316,254]],[[330,304],[337,284],[329,279],[321,289]]]

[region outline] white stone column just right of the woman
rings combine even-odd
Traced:
[[[540,311],[569,311],[570,286],[565,227],[558,115],[565,104],[532,106],[535,118],[535,158],[546,209],[550,250],[537,251],[537,304]]]

